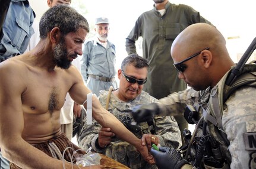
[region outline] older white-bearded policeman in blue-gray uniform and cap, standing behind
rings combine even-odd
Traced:
[[[108,40],[109,19],[96,18],[96,37],[86,40],[81,59],[81,73],[86,86],[99,96],[100,90],[117,87],[115,81],[116,48]]]

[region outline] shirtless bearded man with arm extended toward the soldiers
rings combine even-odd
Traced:
[[[56,159],[58,155],[52,158],[53,154],[75,148],[61,134],[59,115],[65,96],[69,93],[76,103],[83,104],[90,93],[79,71],[71,66],[77,54],[82,54],[89,32],[86,19],[68,5],[57,5],[45,12],[39,30],[40,41],[33,50],[0,64],[0,147],[11,168],[62,168],[62,160]],[[141,140],[94,96],[93,118],[153,163]],[[55,144],[57,150],[50,151],[49,144]],[[65,167],[71,168],[71,164],[65,162]]]

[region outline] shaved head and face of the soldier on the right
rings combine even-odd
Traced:
[[[179,78],[195,90],[213,87],[235,64],[229,57],[223,35],[216,27],[205,23],[185,28],[173,41],[170,53],[174,63],[198,53],[196,57],[182,62],[185,70],[179,72]]]

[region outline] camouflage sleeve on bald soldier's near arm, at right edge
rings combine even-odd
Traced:
[[[256,90],[242,87],[223,105],[223,128],[230,141],[230,168],[256,168]]]

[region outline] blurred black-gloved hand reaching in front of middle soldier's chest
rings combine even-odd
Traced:
[[[159,106],[156,103],[150,105],[138,105],[132,109],[132,116],[135,122],[147,122],[153,118],[154,115],[159,114]]]

